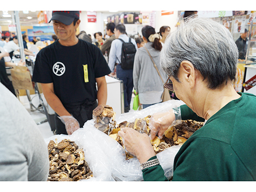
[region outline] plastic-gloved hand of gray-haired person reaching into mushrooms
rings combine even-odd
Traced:
[[[151,139],[153,140],[156,135],[162,139],[164,132],[175,121],[174,110],[164,113],[155,113],[151,116],[149,122],[149,129],[151,130]]]

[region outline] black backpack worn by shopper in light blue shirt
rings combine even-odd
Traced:
[[[119,39],[119,38],[118,38]],[[136,47],[131,42],[129,37],[129,42],[124,42],[123,39],[119,39],[123,42],[121,51],[121,68],[122,69],[133,69],[134,57],[136,53]]]

